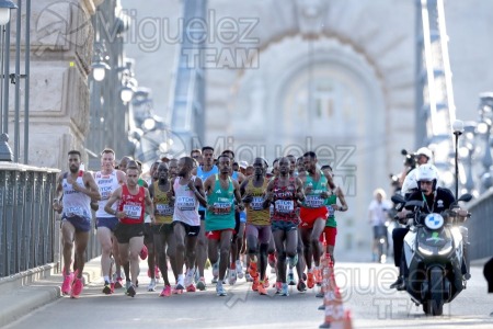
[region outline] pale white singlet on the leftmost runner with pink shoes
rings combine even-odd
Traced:
[[[76,182],[80,186],[84,186],[83,180],[84,172],[79,171]],[[61,186],[64,189],[64,214],[62,217],[73,217],[79,216],[88,220],[91,219],[91,197],[82,192],[73,190],[72,184],[67,182],[68,172],[64,173],[64,179],[61,181]]]

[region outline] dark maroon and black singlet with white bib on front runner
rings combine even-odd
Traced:
[[[290,222],[299,224],[299,215],[297,214],[298,205],[296,203],[296,181],[289,178],[287,186],[278,186],[279,179],[274,180],[273,196],[274,208],[272,211],[272,220]]]

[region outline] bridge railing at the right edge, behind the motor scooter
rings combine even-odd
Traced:
[[[493,256],[493,190],[490,189],[479,198],[468,204],[472,217],[466,222],[471,243],[469,257],[471,260],[481,260]]]

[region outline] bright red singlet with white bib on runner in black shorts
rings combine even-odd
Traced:
[[[130,194],[127,184],[122,185],[122,200],[118,204],[118,212],[125,212],[126,217],[121,218],[123,224],[142,224],[144,214],[146,213],[146,190],[139,186],[139,192],[136,195]]]

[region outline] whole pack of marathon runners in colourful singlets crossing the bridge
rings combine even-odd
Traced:
[[[271,284],[283,296],[289,285],[305,292],[320,284],[322,253],[334,260],[335,213],[348,208],[332,168],[320,167],[311,151],[275,159],[270,171],[264,158],[239,163],[231,150],[216,158],[213,147],[203,147],[156,161],[145,181],[139,161],[124,157],[116,166],[112,149],[101,152],[101,170],[93,173],[81,170],[79,151],[69,151],[53,204],[62,219],[62,294],[78,298],[82,292],[93,212],[104,294],[124,288],[134,297],[146,258],[147,290],[156,291],[162,276],[161,297],[205,291],[207,259],[218,296],[243,277],[261,295]]]

